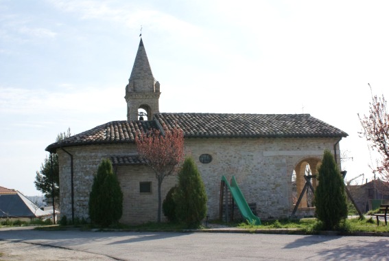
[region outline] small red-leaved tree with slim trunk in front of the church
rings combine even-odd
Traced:
[[[184,158],[184,133],[178,128],[156,129],[135,138],[139,157],[152,170],[158,181],[158,222],[161,222],[161,185],[165,177],[174,173],[178,164]]]

